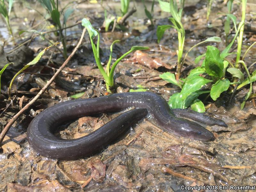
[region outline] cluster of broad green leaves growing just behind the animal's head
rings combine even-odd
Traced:
[[[175,80],[171,73],[164,73],[160,77],[181,88],[181,92],[173,94],[169,99],[172,108],[188,108],[191,105],[193,110],[204,112],[204,104],[197,99],[200,94],[209,93],[213,100],[220,97],[220,93],[227,91],[229,80],[224,78],[228,62],[224,60],[226,54],[220,53],[219,49],[207,46],[205,59],[201,67],[190,71],[185,79],[181,79],[182,84]],[[199,62],[200,58],[196,60]],[[230,70],[232,72],[232,69]],[[208,74],[211,79],[204,78],[202,75]],[[202,90],[205,84],[212,83],[211,90]]]

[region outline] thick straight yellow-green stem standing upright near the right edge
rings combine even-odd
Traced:
[[[242,18],[241,18],[242,24],[244,24],[245,22],[246,1],[247,0],[242,0]],[[243,43],[243,34],[244,34],[244,25],[242,25],[239,32],[239,41],[237,43],[237,54],[236,54],[236,68],[239,67],[239,60],[241,55],[242,43]]]

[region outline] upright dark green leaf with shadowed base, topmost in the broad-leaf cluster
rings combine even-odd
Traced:
[[[207,46],[205,55],[205,71],[210,76],[222,77],[224,64],[220,58],[220,50],[213,46]]]

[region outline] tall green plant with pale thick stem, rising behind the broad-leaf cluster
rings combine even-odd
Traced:
[[[181,23],[182,9],[178,10],[176,1],[170,0],[170,4],[161,0],[158,0],[158,1],[162,11],[170,12],[172,14],[172,18],[169,18],[169,20],[172,22],[173,25],[157,26],[157,29],[156,29],[157,41],[158,43],[160,42],[160,39],[164,36],[165,30],[169,28],[175,28],[177,30],[179,47],[178,47],[178,50],[176,51],[178,56],[176,79],[179,79],[180,71],[183,65],[182,54],[183,54],[183,48],[184,48],[184,42],[185,42],[185,29]]]

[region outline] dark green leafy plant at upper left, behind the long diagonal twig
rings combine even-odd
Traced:
[[[42,6],[47,10],[47,12],[49,13],[49,15],[52,18],[52,21],[55,24],[55,27],[59,30],[59,34],[60,34],[60,40],[63,46],[63,56],[65,59],[67,59],[67,46],[66,46],[66,38],[63,35],[63,29],[64,26],[66,26],[68,17],[72,14],[72,12],[74,11],[71,8],[68,8],[65,12],[63,11],[59,11],[59,1],[56,0],[56,3],[54,0],[40,0],[40,3],[42,4]],[[61,25],[60,22],[60,14],[63,14],[63,25]]]

